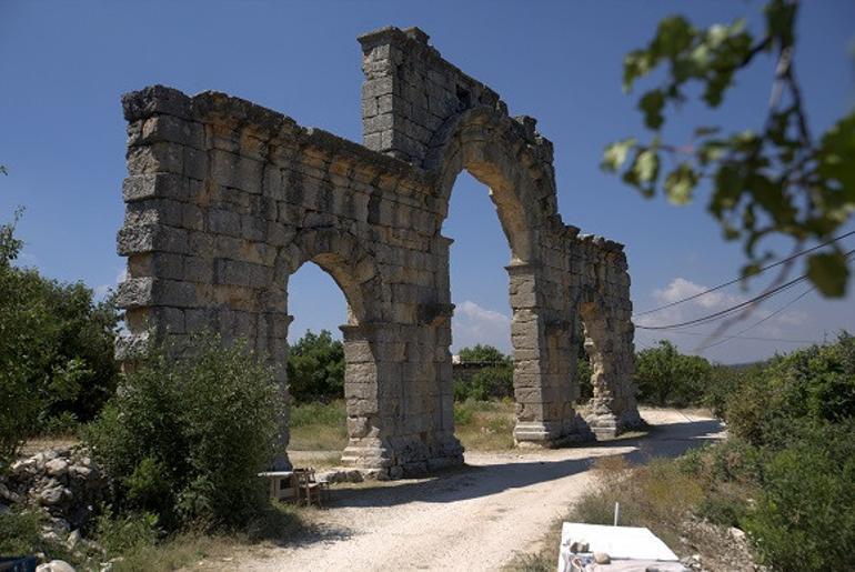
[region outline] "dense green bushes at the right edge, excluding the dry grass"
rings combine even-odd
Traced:
[[[855,545],[855,338],[774,359],[743,379],[724,415],[760,459],[762,493],[743,523],[763,561],[846,569]]]

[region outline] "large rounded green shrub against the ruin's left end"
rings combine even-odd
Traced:
[[[121,512],[151,512],[167,530],[242,524],[263,499],[255,476],[273,453],[280,387],[242,342],[199,335],[171,359],[159,347],[86,431],[115,480]]]

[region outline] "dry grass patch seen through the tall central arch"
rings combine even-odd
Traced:
[[[514,403],[511,400],[454,403],[455,434],[469,451],[514,448]]]

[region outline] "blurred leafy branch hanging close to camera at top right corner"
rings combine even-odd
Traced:
[[[707,29],[681,16],[662,20],[653,40],[626,54],[623,66],[627,92],[664,68],[655,76],[662,81],[638,100],[654,136],[646,143],[630,138],[610,144],[602,162],[605,171],[622,171],[623,181],[645,197],[662,189],[675,204],[690,202],[695,189],[708,182],[707,209],[726,240],[742,242],[746,279],[777,258],[773,251],[761,252],[762,239],[788,237],[799,250],[805,241],[832,239],[855,212],[855,111],[813,136],[794,68],[798,8],[797,0],[766,2],[760,36],[742,19]],[[772,54],[777,63],[758,131],[723,134],[717,127],[702,126],[682,144],[663,140],[666,110],[684,103],[688,89],[700,87],[703,102],[717,108],[736,73],[746,72],[762,54]],[[667,168],[663,157],[670,159]],[[824,295],[843,297],[846,253],[835,243],[811,254],[806,274]]]

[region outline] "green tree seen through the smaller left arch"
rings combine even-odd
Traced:
[[[344,347],[321,330],[292,344],[288,355],[288,382],[291,397],[299,403],[331,401],[344,397]]]

